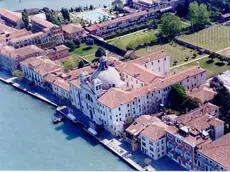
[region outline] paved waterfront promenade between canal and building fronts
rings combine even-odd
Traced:
[[[30,87],[28,82],[17,80],[15,77],[11,77],[7,72],[0,71],[0,80],[6,84],[11,84],[16,89],[19,89],[20,91],[25,92],[37,99],[40,99],[54,107],[59,107],[63,105],[63,102],[61,102],[56,96],[48,93],[47,91],[39,87]],[[89,119],[85,115],[83,115],[80,111],[76,112],[75,114],[78,114],[78,116],[76,116],[78,120],[81,120],[85,124],[87,124]],[[88,132],[87,125],[83,125],[83,129]],[[92,137],[97,139],[108,150],[119,156],[124,162],[126,162],[136,170],[185,170],[168,157],[164,157],[158,161],[152,160],[151,164],[147,166],[145,164],[145,159],[148,158],[146,155],[144,155],[140,151],[133,153],[131,148],[127,145],[126,142],[124,142],[123,139],[114,138],[107,131],[104,131],[97,137]]]

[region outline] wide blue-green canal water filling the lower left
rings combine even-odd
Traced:
[[[132,170],[50,105],[0,83],[0,170]]]

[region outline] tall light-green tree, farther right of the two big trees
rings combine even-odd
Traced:
[[[210,23],[210,13],[205,4],[198,5],[196,1],[190,3],[188,18],[195,27],[204,27]]]

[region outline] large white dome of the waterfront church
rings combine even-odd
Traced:
[[[120,74],[118,71],[111,66],[108,66],[106,70],[102,71],[97,69],[92,75],[92,80],[96,78],[101,80],[103,89],[119,87],[123,83],[120,79]]]

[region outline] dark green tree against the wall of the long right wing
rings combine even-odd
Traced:
[[[172,109],[181,108],[182,103],[188,98],[184,87],[174,84],[169,92],[169,104]]]

